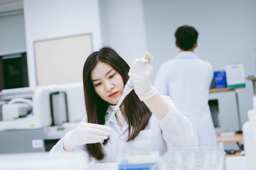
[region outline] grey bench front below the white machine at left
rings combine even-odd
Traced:
[[[73,130],[78,124],[0,131],[0,154],[49,152],[66,132]]]

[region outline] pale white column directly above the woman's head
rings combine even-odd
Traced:
[[[142,0],[100,0],[103,45],[113,47],[128,64],[146,51]]]

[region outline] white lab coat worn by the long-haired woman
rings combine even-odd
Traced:
[[[169,104],[167,115],[163,119],[157,120],[152,113],[146,128],[139,132],[139,136],[130,142],[126,142],[128,135],[127,123],[124,124],[121,130],[116,118],[112,118],[109,125],[111,128],[110,140],[107,142],[107,145],[103,146],[106,156],[102,161],[99,162],[90,157],[85,145],[76,147],[73,152],[85,152],[90,162],[109,163],[117,162],[117,157],[126,153],[142,154],[158,151],[160,155],[163,155],[168,149],[191,145],[193,141],[193,127],[191,123],[176,109],[171,98],[167,96],[163,98]],[[106,120],[108,120],[111,113],[112,108],[109,107]],[[86,118],[82,122],[87,122]],[[62,138],[50,150],[50,153],[63,152],[66,151],[63,149]]]

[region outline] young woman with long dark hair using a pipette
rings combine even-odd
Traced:
[[[179,113],[171,98],[160,96],[151,86],[153,57],[149,52],[146,55],[149,62],[137,59],[129,69],[110,47],[92,52],[83,68],[87,117],[50,152],[86,152],[91,161],[117,162],[117,157],[126,153],[157,151],[163,155],[168,149],[191,145],[191,123]],[[106,126],[129,77],[134,90]]]

